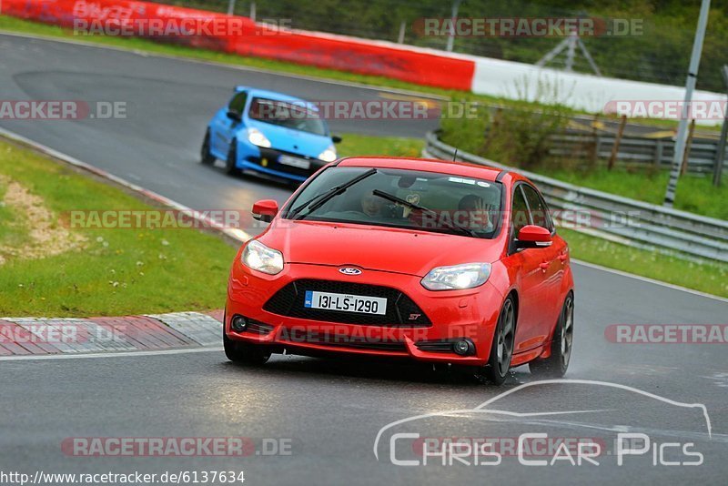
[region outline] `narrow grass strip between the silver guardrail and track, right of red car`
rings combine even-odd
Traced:
[[[559,228],[558,231],[569,243],[573,258],[728,298],[727,264],[696,263],[612,243],[571,229]]]

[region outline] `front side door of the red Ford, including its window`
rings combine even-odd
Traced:
[[[511,207],[511,261],[515,265],[519,283],[519,316],[516,329],[515,352],[522,352],[541,346],[548,339],[546,323],[551,319],[551,294],[554,292],[555,265],[552,260],[556,255],[551,247],[516,248],[515,241],[518,231],[526,225],[537,224],[548,228],[551,218],[546,213],[540,213],[540,205],[529,198],[534,189],[525,183],[520,183],[513,189]],[[534,218],[535,216],[535,218]],[[551,229],[551,228],[550,228]],[[558,289],[555,289],[558,293]]]

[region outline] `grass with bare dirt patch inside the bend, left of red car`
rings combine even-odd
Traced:
[[[153,209],[24,148],[0,143],[0,174],[43,197],[57,216],[69,210]],[[2,190],[2,189],[0,189]],[[0,228],[10,226],[0,208]],[[23,218],[15,215],[14,218]],[[29,228],[32,221],[26,221]],[[220,309],[236,249],[192,229],[73,229],[86,248],[0,265],[0,316],[119,316]],[[0,232],[0,246],[22,245]],[[12,238],[11,238],[12,237]]]

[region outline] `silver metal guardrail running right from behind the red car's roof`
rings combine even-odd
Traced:
[[[681,258],[728,262],[728,221],[663,208],[551,177],[507,167],[442,143],[435,132],[427,135],[425,157],[470,162],[513,170],[529,177],[555,209],[557,223],[583,233],[637,248]],[[586,220],[588,218],[588,221]]]

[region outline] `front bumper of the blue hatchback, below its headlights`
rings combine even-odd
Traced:
[[[293,167],[281,164],[279,162],[281,156],[305,160],[308,162],[309,167]],[[303,182],[325,165],[326,162],[316,157],[285,152],[276,148],[257,147],[245,142],[238,143],[237,167],[240,169],[254,170],[268,176]]]

